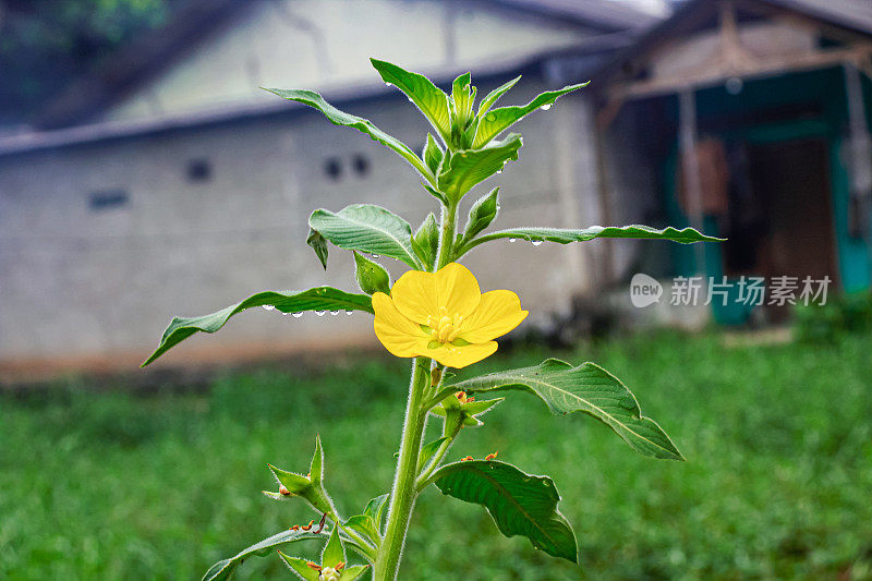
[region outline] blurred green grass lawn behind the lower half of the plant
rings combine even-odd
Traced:
[[[590,417],[554,417],[510,394],[451,457],[499,450],[552,475],[582,569],[502,537],[483,509],[433,488],[401,578],[872,578],[870,353],[867,336],[727,349],[674,334],[558,353],[621,377],[688,461],[639,457]],[[470,372],[545,356],[518,349]],[[390,484],[408,366],[343,361],[324,374],[229,374],[199,396],[94,394],[71,382],[0,398],[0,579],[198,578],[312,518],[259,491],[275,487],[266,462],[306,468],[316,432],[340,509],[362,508]],[[282,569],[253,558],[239,578],[289,578]]]

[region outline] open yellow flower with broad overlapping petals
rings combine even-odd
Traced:
[[[390,296],[373,294],[375,335],[398,358],[435,359],[447,367],[465,367],[492,355],[494,341],[521,324],[518,295],[485,292],[469,269],[451,263],[436,273],[410,270]]]

